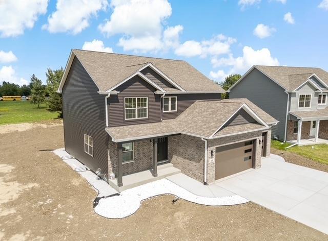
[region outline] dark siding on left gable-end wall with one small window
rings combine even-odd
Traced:
[[[92,171],[108,174],[105,95],[75,57],[63,88],[65,150]],[[84,151],[84,134],[93,137],[93,157]]]

